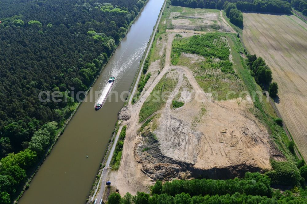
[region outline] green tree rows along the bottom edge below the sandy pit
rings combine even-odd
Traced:
[[[240,188],[240,185],[242,188]],[[138,192],[135,196],[126,193],[121,197],[118,193],[113,193],[108,198],[108,204],[277,204],[307,202],[304,195],[295,196],[291,191],[285,191],[282,194],[279,190],[274,191],[269,186],[270,179],[266,175],[250,172],[247,172],[243,179],[220,181],[212,179],[174,180],[165,184],[157,181],[151,189],[151,195]],[[263,195],[266,193],[267,195]]]

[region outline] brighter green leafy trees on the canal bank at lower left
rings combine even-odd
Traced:
[[[54,141],[57,123],[50,122],[34,132],[29,148],[16,154],[9,153],[0,160],[0,204],[12,202],[16,189],[21,188],[27,175]],[[1,138],[2,139],[2,138]]]

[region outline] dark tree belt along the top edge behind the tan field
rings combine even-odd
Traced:
[[[293,0],[294,1],[294,0]],[[297,8],[306,9],[305,0],[295,3]],[[225,9],[227,3],[233,3],[236,8],[240,11],[257,11],[257,12],[274,12],[274,13],[291,13],[291,5],[283,0],[171,0],[174,6],[185,6],[191,8],[207,8],[207,9]],[[293,5],[293,4],[292,4]],[[294,6],[293,6],[294,7]],[[294,7],[296,8],[296,7]],[[234,8],[235,9],[235,8]],[[235,15],[236,19],[239,18],[240,14],[238,11],[231,12]]]

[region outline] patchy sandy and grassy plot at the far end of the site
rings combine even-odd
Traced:
[[[169,6],[165,20],[167,29],[230,32],[231,28],[222,17],[220,10],[193,9],[181,6]]]

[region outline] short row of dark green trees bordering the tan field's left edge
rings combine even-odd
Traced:
[[[247,55],[247,66],[252,71],[251,74],[255,78],[258,85],[262,90],[268,90],[270,96],[276,97],[278,93],[278,85],[276,82],[272,82],[272,71],[266,65],[266,62],[262,57],[256,55]]]

